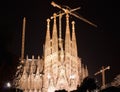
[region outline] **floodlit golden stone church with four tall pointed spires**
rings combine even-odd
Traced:
[[[28,56],[18,66],[14,84],[24,92],[54,92],[65,89],[76,90],[82,80],[88,76],[87,66],[78,57],[75,22],[72,22],[70,36],[69,15],[66,14],[65,40],[57,30],[56,14],[50,36],[50,20],[47,19],[47,32],[44,55],[37,59]],[[58,33],[59,32],[59,36]]]

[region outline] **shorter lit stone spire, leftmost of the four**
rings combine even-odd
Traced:
[[[50,19],[47,19],[47,32],[46,32],[46,40],[45,40],[45,57],[50,55]]]

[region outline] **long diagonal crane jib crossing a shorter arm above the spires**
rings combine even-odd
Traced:
[[[59,9],[61,9],[62,11],[64,11],[64,13],[62,13],[62,15],[69,13],[70,15],[73,15],[73,16],[75,16],[76,18],[78,18],[78,19],[80,19],[80,20],[82,20],[82,21],[84,21],[84,22],[86,22],[86,23],[88,23],[88,24],[90,24],[90,25],[92,25],[92,26],[94,26],[94,27],[97,27],[97,25],[95,25],[94,23],[92,23],[92,22],[88,21],[87,19],[83,18],[81,15],[78,15],[78,14],[73,13],[73,11],[80,9],[80,7],[75,8],[75,9],[72,9],[72,10],[69,10],[69,9],[65,9],[65,8],[61,7],[60,5],[56,4],[56,3],[53,2],[53,1],[51,2],[51,5],[54,6],[54,7],[57,7],[57,8],[59,8]],[[59,16],[59,15],[58,15],[58,16]]]

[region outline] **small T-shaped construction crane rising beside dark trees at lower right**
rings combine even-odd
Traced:
[[[110,69],[110,66],[107,66],[106,68],[102,66],[102,69],[94,74],[94,75],[98,75],[100,73],[102,74],[102,88],[105,88],[105,71],[109,69]]]

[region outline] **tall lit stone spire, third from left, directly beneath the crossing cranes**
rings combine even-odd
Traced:
[[[70,53],[71,40],[70,40],[70,27],[69,27],[69,15],[66,14],[66,34],[65,34],[65,52]]]

